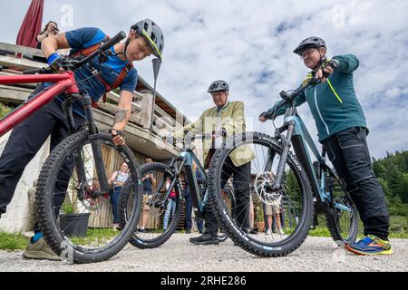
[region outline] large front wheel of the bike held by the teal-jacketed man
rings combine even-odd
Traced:
[[[249,253],[288,255],[306,239],[313,221],[313,197],[305,170],[289,153],[282,189],[274,190],[272,185],[282,154],[278,140],[248,132],[227,140],[226,145],[226,149],[216,151],[209,169],[210,205],[220,227]],[[252,157],[250,170],[248,176],[244,176],[247,173],[239,171],[234,160],[239,163],[248,157]],[[248,163],[241,166],[248,168]],[[229,208],[222,197],[222,189],[228,182],[234,185],[234,208]],[[256,197],[253,203],[257,231],[248,228],[252,223],[249,222],[249,194]]]

